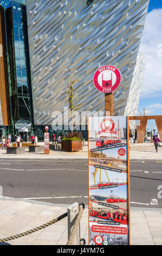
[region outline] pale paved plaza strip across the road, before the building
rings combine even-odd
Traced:
[[[43,142],[38,143],[43,145]],[[85,143],[83,151],[53,151],[50,150],[49,155],[41,153],[29,153],[29,149],[25,148],[25,154],[21,155],[8,155],[5,150],[0,149],[0,161],[12,160],[87,160],[88,159],[88,142]],[[129,150],[130,160],[162,160],[162,147],[159,147],[159,152],[155,151],[153,143],[145,142],[143,144],[133,143],[130,145]]]

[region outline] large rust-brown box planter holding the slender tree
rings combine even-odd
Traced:
[[[82,141],[62,141],[61,142],[62,151],[77,151],[82,150]]]

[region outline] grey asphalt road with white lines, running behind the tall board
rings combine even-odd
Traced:
[[[131,206],[162,208],[162,161],[131,161],[130,170]],[[87,205],[88,162],[1,161],[0,186],[4,197]]]

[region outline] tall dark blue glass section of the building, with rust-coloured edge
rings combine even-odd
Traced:
[[[1,133],[14,135],[34,124],[27,13],[25,0],[0,1],[0,4],[1,72],[4,74],[0,78],[3,80],[0,125]],[[24,134],[22,137],[26,139]]]

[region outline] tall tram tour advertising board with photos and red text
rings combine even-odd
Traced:
[[[129,245],[127,118],[89,117],[88,125],[89,244]]]

